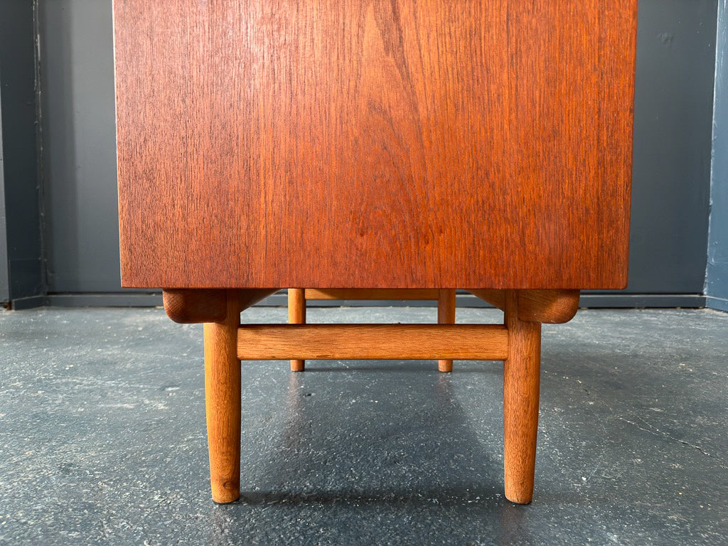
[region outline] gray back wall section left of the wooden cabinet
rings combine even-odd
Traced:
[[[110,0],[40,0],[51,292],[119,291]]]

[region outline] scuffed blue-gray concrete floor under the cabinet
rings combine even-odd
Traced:
[[[434,317],[309,310],[310,322]],[[0,336],[2,544],[728,540],[728,314],[587,310],[545,326],[528,507],[502,496],[501,363],[450,375],[429,361],[242,363],[243,495],[221,506],[199,325],[159,309],[40,309],[0,313]]]

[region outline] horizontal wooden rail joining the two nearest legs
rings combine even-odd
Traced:
[[[496,324],[242,325],[240,360],[505,360]]]

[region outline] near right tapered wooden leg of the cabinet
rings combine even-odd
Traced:
[[[539,420],[541,323],[518,318],[518,294],[505,301],[508,357],[503,369],[505,496],[527,505],[534,493],[536,435]]]

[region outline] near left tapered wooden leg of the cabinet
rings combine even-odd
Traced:
[[[227,311],[220,323],[205,323],[205,408],[213,501],[240,496],[240,360],[237,290],[226,290]]]

